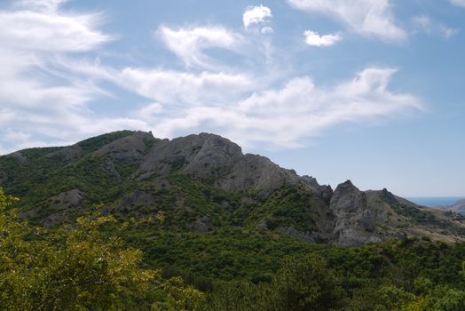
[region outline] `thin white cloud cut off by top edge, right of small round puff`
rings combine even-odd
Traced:
[[[377,36],[387,41],[406,39],[406,32],[395,24],[389,0],[287,1],[298,10],[333,16],[363,36]]]

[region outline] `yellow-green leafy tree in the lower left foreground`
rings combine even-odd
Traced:
[[[100,228],[109,216],[88,215],[53,234],[29,227],[0,188],[0,309],[195,309],[202,294],[182,280],[141,269],[141,251],[124,248]],[[118,227],[118,226],[115,226]]]

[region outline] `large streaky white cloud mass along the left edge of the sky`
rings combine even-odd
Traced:
[[[62,72],[54,60],[95,51],[112,36],[98,29],[102,14],[62,12],[64,3],[25,0],[0,11],[0,136],[9,148],[25,141],[42,146],[54,135],[71,139],[92,123],[87,104],[101,95],[99,87],[91,78]],[[21,140],[10,140],[12,133],[21,133]]]

